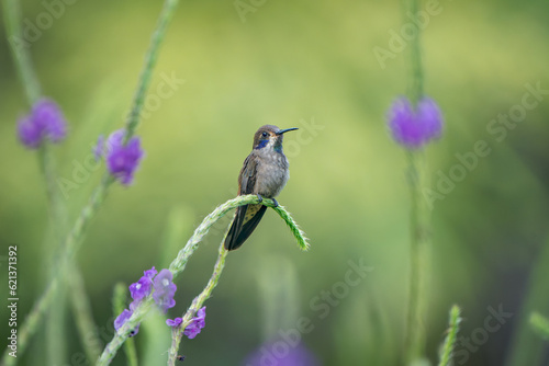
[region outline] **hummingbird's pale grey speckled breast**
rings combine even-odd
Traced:
[[[282,152],[258,153],[255,193],[274,198],[290,179],[288,159]]]

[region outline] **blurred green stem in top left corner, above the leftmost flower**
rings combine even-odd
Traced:
[[[23,45],[23,27],[21,25],[21,8],[18,0],[3,0],[5,34],[11,47],[15,69],[23,83],[26,100],[32,106],[42,94],[38,79],[34,72],[29,48]]]

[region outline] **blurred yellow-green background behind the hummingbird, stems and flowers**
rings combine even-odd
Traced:
[[[202,218],[235,195],[259,126],[300,127],[285,137],[291,180],[279,202],[311,238],[312,249],[300,252],[269,210],[245,245],[228,255],[206,304],[206,328],[182,343],[186,364],[244,365],[277,325],[289,329],[306,317],[314,329],[303,334],[304,344],[323,365],[397,365],[410,199],[405,153],[389,136],[384,115],[408,84],[407,53],[396,53],[382,69],[372,49],[388,49],[389,31],[400,31],[400,3],[253,7],[245,22],[233,1],[181,1],[177,10],[138,129],[146,158],[133,186],[112,187],[78,254],[96,323],[111,327],[116,282],[130,284],[153,265],[166,266]],[[522,123],[505,128],[501,141],[486,126],[522,103],[525,84],[549,89],[549,4],[440,1],[440,7],[423,38],[426,92],[446,118],[444,137],[427,149],[433,188],[438,172],[449,174],[459,164],[456,155],[473,151],[477,141],[485,140],[491,153],[435,202],[427,356],[437,358],[452,304],[463,309],[466,338],[484,327],[490,307],[501,306],[513,316],[469,352],[464,364],[504,365],[524,321],[533,267],[548,242],[549,95],[542,94]],[[85,164],[99,134],[123,125],[159,10],[159,2],[143,0],[77,1],[31,44],[44,94],[61,105],[70,124],[68,139],[54,151],[60,176],[79,180],[67,192],[71,222],[104,171],[104,165],[83,172],[75,167]],[[23,1],[30,23],[45,11],[43,3]],[[5,260],[9,244],[19,248],[22,321],[44,288],[51,244],[36,155],[15,136],[26,104],[1,32],[0,255]],[[184,82],[160,98],[166,78]],[[177,278],[170,318],[205,285],[227,224],[225,218],[215,227]],[[177,248],[166,249],[170,237]],[[311,301],[345,281],[348,261],[360,259],[373,270],[321,319]],[[5,261],[1,268],[4,294]],[[547,307],[538,310],[549,314]],[[81,352],[81,344],[68,307],[65,313],[67,336],[58,342],[67,347],[65,364],[77,365],[70,355]],[[8,319],[5,306],[0,316]],[[1,329],[5,340],[9,330]],[[167,327],[160,331],[169,336]],[[44,339],[38,332],[21,365],[45,364]],[[135,340],[141,354],[153,347],[146,329]],[[165,364],[168,342],[150,351],[149,364]],[[122,352],[113,364],[125,364]]]

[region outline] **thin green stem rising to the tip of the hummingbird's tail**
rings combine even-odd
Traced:
[[[228,232],[228,230],[227,230]],[[217,261],[215,262],[215,266],[213,268],[212,276],[210,277],[210,281],[208,282],[208,285],[204,287],[202,293],[200,293],[199,296],[192,300],[191,306],[187,310],[187,312],[183,314],[183,321],[181,322],[181,327],[173,328],[171,330],[171,347],[168,352],[168,366],[175,366],[177,356],[178,356],[178,351],[179,351],[179,344],[181,343],[181,339],[183,336],[183,331],[187,327],[190,325],[192,322],[192,318],[197,313],[197,311],[202,308],[202,305],[204,301],[210,298],[212,295],[213,289],[215,286],[217,286],[217,282],[220,281],[221,273],[223,272],[223,268],[225,266],[225,258],[227,256],[228,251],[225,249],[225,236],[223,237],[223,240],[221,241],[220,244],[220,250],[219,250],[219,256]]]

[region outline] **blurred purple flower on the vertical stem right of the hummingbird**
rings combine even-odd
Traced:
[[[442,113],[429,98],[423,98],[415,110],[406,98],[400,98],[389,111],[389,128],[396,142],[417,149],[440,137]]]

